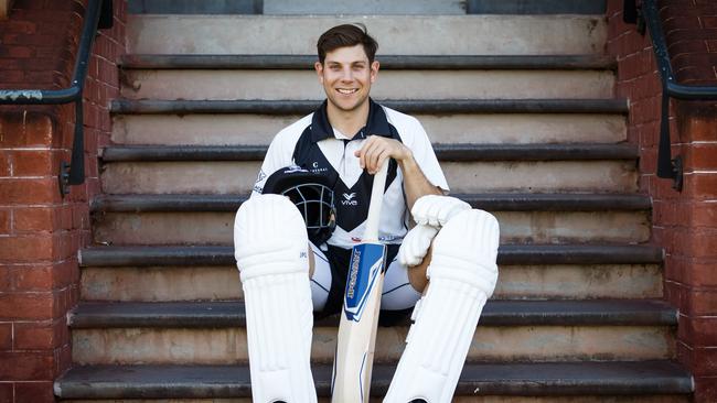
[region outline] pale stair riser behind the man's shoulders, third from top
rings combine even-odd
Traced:
[[[298,116],[126,115],[116,116],[117,144],[269,144]],[[416,115],[436,143],[566,143],[624,141],[619,115]]]

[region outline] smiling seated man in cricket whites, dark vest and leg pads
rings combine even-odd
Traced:
[[[449,402],[495,286],[497,224],[443,196],[449,187],[420,123],[370,98],[378,45],[363,25],[334,26],[317,47],[314,68],[327,100],[277,134],[235,221],[254,401],[315,402],[309,362],[312,309],[341,309],[350,250],[363,233],[373,174],[387,163],[379,240],[388,247],[389,263],[382,309],[410,309],[419,299],[422,308],[414,309],[415,325],[386,401]],[[302,181],[331,188],[339,199],[329,237],[309,239],[301,208],[270,194],[282,193],[286,186],[276,188],[276,183],[299,171]],[[417,224],[410,231],[409,211]]]

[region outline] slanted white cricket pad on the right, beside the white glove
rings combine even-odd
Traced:
[[[495,218],[482,210],[463,210],[438,232],[428,292],[416,304],[384,402],[451,401],[478,319],[495,288],[499,232]]]

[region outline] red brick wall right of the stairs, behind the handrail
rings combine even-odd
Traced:
[[[717,86],[717,2],[660,1],[679,84]],[[665,248],[665,297],[679,309],[677,358],[695,375],[696,402],[717,401],[717,105],[673,100],[672,154],[684,159],[684,189],[655,176],[662,86],[649,35],[608,1],[608,54],[617,94],[630,99],[629,141],[640,148],[640,189],[653,198],[652,242]]]

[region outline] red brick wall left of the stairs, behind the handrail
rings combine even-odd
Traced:
[[[89,242],[88,199],[99,192],[97,149],[109,142],[119,92],[125,9],[100,31],[84,90],[84,185],[60,196],[74,106],[0,107],[0,403],[52,402],[72,362],[66,314],[78,299],[77,250]],[[0,21],[0,88],[69,85],[86,0],[17,0]]]

